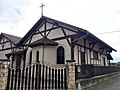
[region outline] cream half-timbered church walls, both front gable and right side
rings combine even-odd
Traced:
[[[32,47],[32,60],[34,60],[32,63],[36,62],[36,52],[39,51],[39,60],[56,64],[56,53],[59,46],[62,46],[65,49],[65,60],[71,60],[73,56],[73,54],[71,54],[71,40],[73,38],[72,36],[76,34],[78,34],[77,28],[65,26],[64,24],[57,23],[52,20],[45,20],[40,23],[38,28],[36,28],[29,37],[27,37],[23,44],[28,45],[44,37],[54,40],[58,43],[58,46],[41,45]],[[82,33],[80,35],[82,35]],[[76,63],[94,64],[97,66],[107,65],[107,56],[105,55],[106,50],[103,47],[101,49],[99,42],[97,43],[95,41],[90,41],[88,38],[81,37],[76,37],[78,42],[74,47],[73,58],[76,60]],[[95,52],[97,53],[97,58],[95,58]],[[28,54],[29,53],[27,53],[26,56],[29,56]],[[81,62],[81,57],[82,59],[85,58],[85,61]],[[26,63],[28,62],[29,59],[26,60]]]

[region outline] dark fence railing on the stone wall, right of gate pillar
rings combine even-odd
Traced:
[[[76,79],[90,78],[120,71],[120,67],[76,65]]]

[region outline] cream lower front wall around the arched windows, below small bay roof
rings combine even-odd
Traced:
[[[65,49],[65,60],[70,60],[71,58],[71,53],[70,53],[70,47],[68,46],[67,41],[64,40],[59,40],[57,41],[59,43],[58,46],[37,46],[31,48],[32,51],[32,63],[36,63],[36,53],[39,51],[39,60],[42,62],[50,63],[50,64],[56,64],[57,62],[57,48],[59,46],[62,46]],[[44,53],[44,54],[43,54]],[[27,57],[26,57],[26,65],[29,64],[29,57],[30,57],[30,52],[27,52]]]

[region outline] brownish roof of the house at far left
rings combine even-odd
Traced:
[[[6,37],[8,40],[10,40],[14,44],[17,44],[21,40],[20,37],[13,36],[13,35],[6,34],[6,33],[1,33],[0,38],[2,38],[2,36]]]

